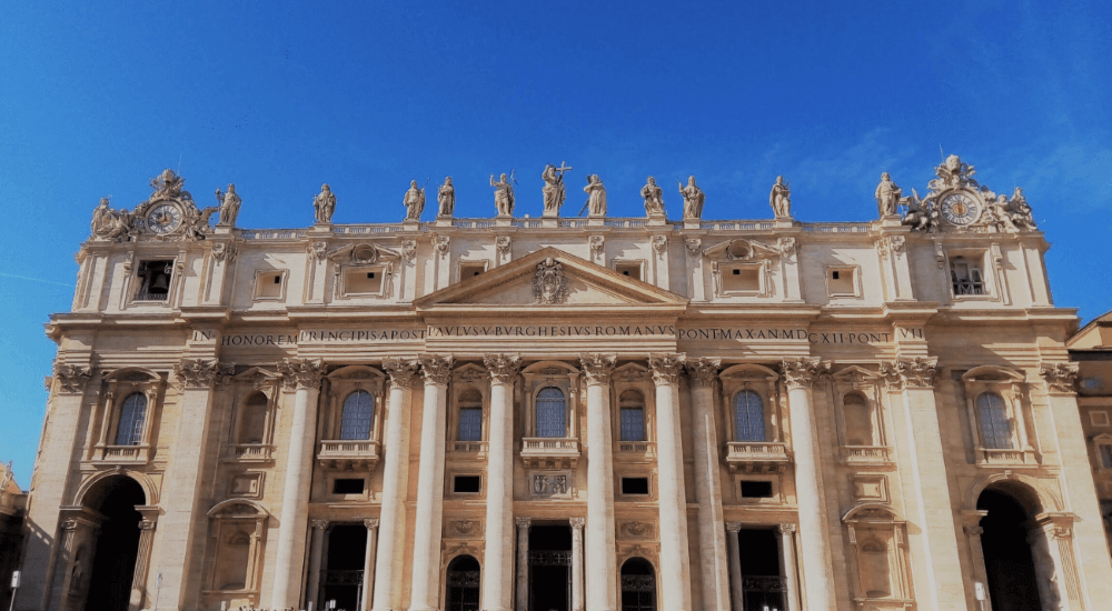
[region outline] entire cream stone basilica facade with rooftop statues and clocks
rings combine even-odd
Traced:
[[[489,219],[450,180],[394,224],[334,224],[325,186],[311,227],[238,229],[232,187],[199,209],[169,170],[102,201],[16,609],[1112,600],[1076,314],[1020,190],[951,157],[871,222],[796,221],[783,180],[773,219],[709,221],[692,178],[669,220],[653,180],[607,217],[593,176],[560,218],[568,170],[535,219],[505,176]]]

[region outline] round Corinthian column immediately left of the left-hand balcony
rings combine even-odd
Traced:
[[[290,359],[278,363],[286,390],[294,390],[294,421],[289,428],[289,454],[282,485],[278,522],[278,558],[271,607],[298,607],[301,592],[301,562],[305,531],[309,525],[309,483],[312,478],[312,447],[317,440],[317,395],[325,364]]]

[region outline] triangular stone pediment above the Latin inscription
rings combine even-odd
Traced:
[[[544,302],[535,293],[534,280],[542,266],[558,263],[566,293]],[[596,266],[556,248],[544,248],[486,273],[468,278],[416,300],[418,310],[487,308],[659,307],[683,308],[687,299],[614,270]]]

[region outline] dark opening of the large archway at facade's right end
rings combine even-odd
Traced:
[[[1039,611],[1035,565],[1027,543],[1027,512],[1012,495],[985,490],[976,508],[987,511],[981,519],[981,549],[992,611]]]

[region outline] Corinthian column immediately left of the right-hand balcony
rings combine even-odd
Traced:
[[[725,522],[718,475],[718,432],[714,425],[714,381],[718,359],[691,359],[692,434],[695,463],[695,498],[698,500],[699,573],[703,575],[703,605],[729,609],[729,571],[726,562]]]

